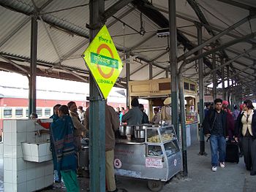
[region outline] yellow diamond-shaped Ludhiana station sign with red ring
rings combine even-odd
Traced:
[[[123,64],[105,25],[83,53],[83,59],[86,61],[86,65],[89,67],[102,95],[107,99],[123,69]]]

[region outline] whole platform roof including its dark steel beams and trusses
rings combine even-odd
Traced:
[[[121,1],[121,0],[120,0]],[[118,1],[105,1],[105,10]],[[128,3],[129,2],[129,3]],[[106,26],[124,61],[116,86],[125,87],[129,53],[130,80],[170,77],[169,40],[159,37],[168,28],[168,1],[123,0],[125,6],[108,17]],[[30,66],[31,17],[38,18],[37,75],[87,82],[89,70],[82,54],[89,45],[89,0],[0,0],[0,69],[26,74]],[[225,79],[233,80],[236,93],[256,93],[256,1],[179,0],[176,1],[178,66],[184,53],[197,47],[197,26],[203,26],[203,42],[226,28],[236,28],[203,47],[217,48],[217,67],[223,58]],[[239,23],[239,24],[238,24]],[[229,46],[227,46],[229,45]],[[219,47],[222,47],[220,49]],[[235,59],[236,58],[236,59]],[[186,58],[184,77],[198,82],[195,55]],[[231,62],[231,61],[232,62]],[[12,62],[11,62],[12,61]],[[212,54],[204,57],[204,84],[213,82]],[[222,70],[217,70],[217,79]]]

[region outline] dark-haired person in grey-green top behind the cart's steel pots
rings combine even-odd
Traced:
[[[143,119],[143,112],[139,109],[138,98],[134,98],[131,101],[132,109],[130,109],[121,118],[122,122],[127,122],[127,125],[140,125]]]

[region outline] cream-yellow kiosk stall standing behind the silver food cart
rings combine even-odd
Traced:
[[[129,81],[129,101],[134,97],[148,100],[148,118],[153,118],[153,107],[162,107],[170,96],[170,78]],[[184,78],[187,144],[197,142],[197,83]],[[179,131],[181,134],[181,131]],[[179,137],[181,139],[181,137]],[[187,145],[187,147],[189,147]]]

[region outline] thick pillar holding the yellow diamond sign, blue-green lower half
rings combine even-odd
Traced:
[[[90,0],[90,42],[103,23],[99,19],[105,10],[104,0]],[[90,73],[90,191],[105,192],[105,99]]]

